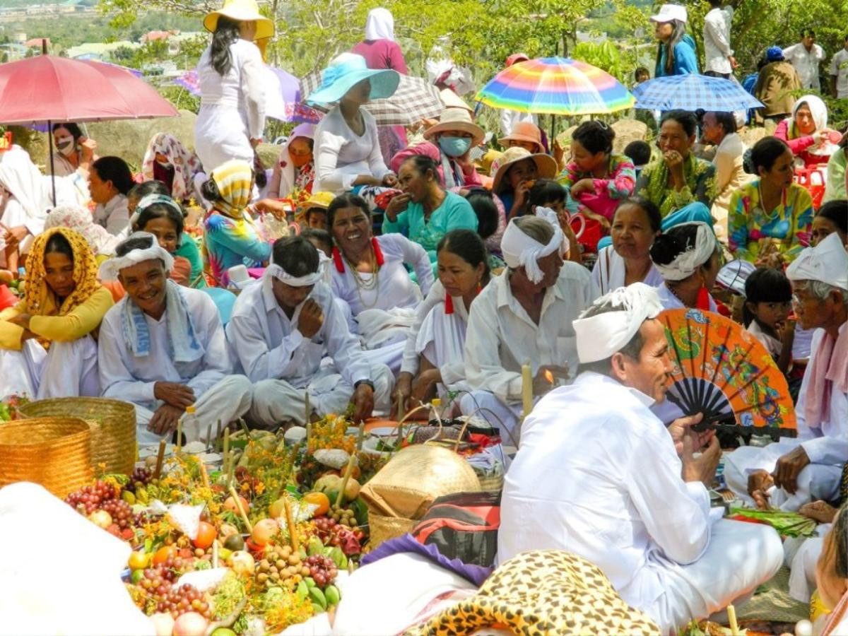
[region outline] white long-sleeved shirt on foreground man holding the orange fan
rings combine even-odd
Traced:
[[[664,593],[664,570],[700,558],[710,542],[709,494],[683,482],[652,401],[585,372],[536,404],[505,477],[499,562],[525,550],[573,552],[644,608]]]

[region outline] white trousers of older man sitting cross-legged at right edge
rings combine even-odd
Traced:
[[[762,448],[742,446],[729,453],[724,460],[724,478],[728,488],[747,504],[752,505],[753,501],[748,496],[750,472],[772,472],[778,459],[797,445],[795,441],[775,442]],[[782,488],[772,488],[769,491],[770,503],[781,510],[795,511],[817,499],[833,501],[839,494],[841,476],[841,466],[807,464],[798,475],[798,489],[795,494],[786,493]]]

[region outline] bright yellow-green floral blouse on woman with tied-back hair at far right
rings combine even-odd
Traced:
[[[737,259],[755,262],[766,243],[773,243],[787,262],[810,244],[812,197],[797,183],[784,190],[778,207],[767,213],[760,204],[760,180],[730,197],[728,243]]]

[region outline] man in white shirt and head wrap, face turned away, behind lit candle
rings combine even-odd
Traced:
[[[472,391],[460,407],[500,425],[505,444],[517,446],[520,437],[522,365],[531,366],[534,398],[577,368],[572,320],[589,306],[592,284],[585,267],[563,262],[567,245],[551,209],[510,220],[500,243],[507,268],[471,304],[465,362]]]

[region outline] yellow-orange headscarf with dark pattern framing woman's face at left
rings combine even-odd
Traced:
[[[59,298],[47,285],[44,253],[53,234],[61,234],[74,254],[74,291],[59,305]],[[31,315],[65,315],[83,304],[98,291],[98,264],[86,239],[68,227],[53,227],[39,234],[26,257],[26,313]]]

